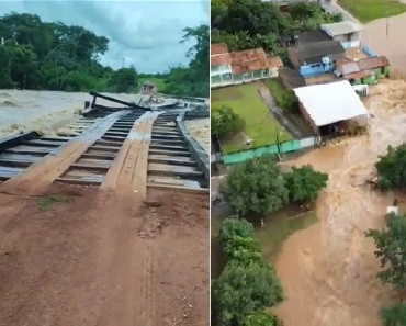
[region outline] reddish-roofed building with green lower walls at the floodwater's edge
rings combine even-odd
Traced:
[[[363,58],[358,61],[343,59],[337,63],[335,72],[351,85],[371,85],[390,76],[390,61],[385,56]]]

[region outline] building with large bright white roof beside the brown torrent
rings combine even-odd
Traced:
[[[303,116],[317,135],[366,125],[368,111],[348,80],[293,89]]]

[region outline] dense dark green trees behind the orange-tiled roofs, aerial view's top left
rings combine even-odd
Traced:
[[[229,50],[262,47],[282,59],[286,56],[281,37],[342,20],[341,14],[327,13],[316,2],[292,3],[287,12],[260,0],[212,0],[211,5],[212,43],[226,43]]]

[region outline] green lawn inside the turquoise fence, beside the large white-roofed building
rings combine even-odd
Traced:
[[[245,121],[243,133],[252,139],[250,148],[277,144],[277,130],[282,127],[269,113],[269,110],[258,93],[255,85],[241,85],[212,90],[212,110],[223,105],[232,108]],[[283,131],[280,142],[291,140],[292,135]],[[222,139],[225,154],[249,149],[244,145],[241,135]]]

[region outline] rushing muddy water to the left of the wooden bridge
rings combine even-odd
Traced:
[[[137,103],[139,94],[110,94]],[[147,97],[145,97],[146,99]],[[36,131],[52,135],[71,121],[92,97],[80,92],[0,90],[0,137],[15,132]],[[120,105],[98,99],[98,104]]]

